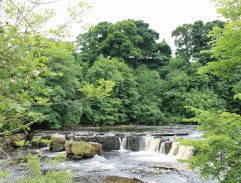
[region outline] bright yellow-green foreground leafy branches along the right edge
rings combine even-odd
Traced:
[[[212,54],[218,58],[200,68],[200,73],[209,73],[236,81],[240,77],[240,35],[241,6],[239,0],[213,1],[227,23],[224,29],[215,28],[212,32]],[[234,87],[234,98],[240,99],[239,83]],[[217,178],[220,182],[241,181],[241,116],[237,113],[208,112],[190,108],[196,116],[188,121],[199,123],[205,139],[191,142],[196,155],[189,159],[191,166],[199,167],[205,177]]]

